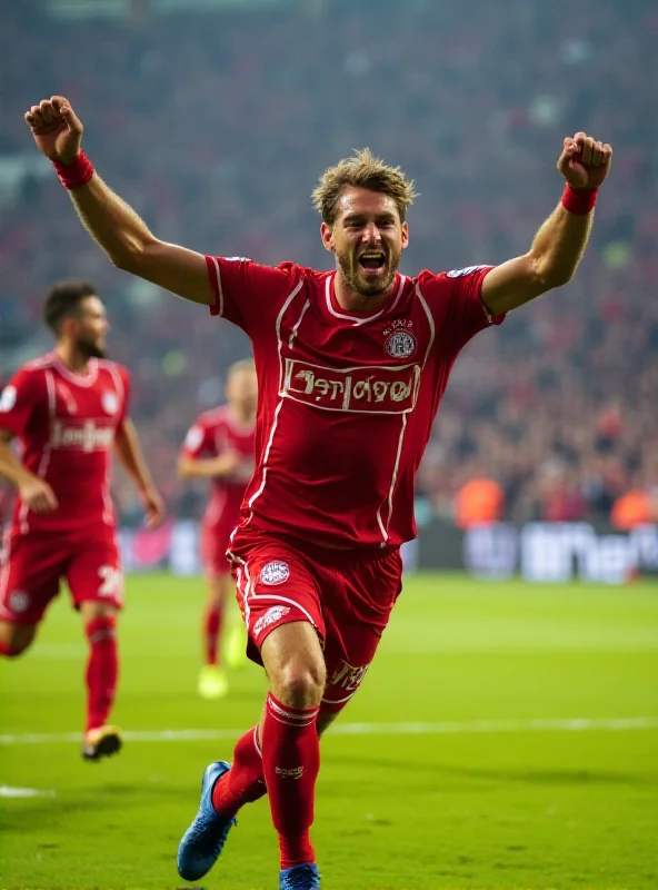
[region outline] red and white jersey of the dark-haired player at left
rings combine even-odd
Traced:
[[[58,508],[37,514],[17,498],[17,531],[61,533],[114,525],[111,449],[128,406],[128,370],[91,359],[76,374],[56,353],[29,362],[0,397],[0,427],[20,443],[21,461],[52,487]]]

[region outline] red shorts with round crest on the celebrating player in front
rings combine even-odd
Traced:
[[[338,551],[242,532],[231,546],[238,603],[247,625],[247,654],[275,627],[310,622],[327,665],[323,710],[340,711],[358,690],[402,587],[398,547]]]

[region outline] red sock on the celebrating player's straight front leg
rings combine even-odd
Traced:
[[[319,710],[288,708],[271,692],[267,698],[262,765],[282,869],[316,861],[309,829],[320,769]]]

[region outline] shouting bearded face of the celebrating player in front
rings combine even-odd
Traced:
[[[322,240],[352,290],[379,297],[392,287],[409,233],[389,195],[350,186],[339,198],[333,226],[322,224]]]

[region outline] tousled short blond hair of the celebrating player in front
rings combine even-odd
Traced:
[[[336,167],[325,170],[312,191],[313,207],[328,226],[335,224],[338,201],[349,186],[388,195],[395,200],[402,222],[417,197],[413,180],[407,179],[400,167],[385,164],[369,148],[357,149],[350,158],[343,158]]]

